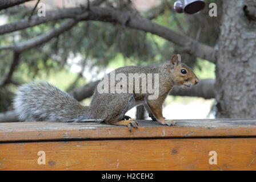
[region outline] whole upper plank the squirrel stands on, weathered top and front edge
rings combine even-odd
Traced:
[[[175,120],[175,126],[139,121],[139,128],[99,123],[17,122],[0,123],[0,142],[117,139],[256,137],[256,119]]]

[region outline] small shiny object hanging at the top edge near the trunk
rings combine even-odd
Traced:
[[[177,13],[195,14],[205,8],[203,0],[181,0],[174,2],[174,10]]]

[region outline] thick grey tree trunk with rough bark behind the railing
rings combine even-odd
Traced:
[[[223,1],[222,10],[217,117],[256,118],[256,1]]]

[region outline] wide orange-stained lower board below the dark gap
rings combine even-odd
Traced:
[[[255,170],[256,138],[82,140],[0,144],[1,170]],[[46,152],[46,164],[37,152]],[[209,152],[217,152],[217,165]]]

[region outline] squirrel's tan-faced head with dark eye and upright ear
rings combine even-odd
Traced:
[[[173,55],[171,57],[171,77],[174,84],[182,88],[190,88],[197,84],[199,79],[195,73],[187,65],[181,63],[181,55]]]

